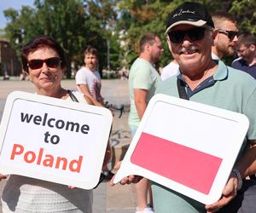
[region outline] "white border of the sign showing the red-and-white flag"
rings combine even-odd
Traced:
[[[218,173],[215,176],[215,179],[213,181],[210,193],[204,194],[204,193],[195,191],[194,189],[192,189],[190,187],[186,187],[182,184],[177,183],[176,181],[172,181],[171,179],[168,179],[164,176],[160,176],[160,175],[152,172],[151,170],[144,169],[144,168],[138,166],[137,164],[131,163],[131,155],[132,155],[132,153],[134,153],[134,151],[137,147],[137,142],[138,142],[140,136],[142,135],[143,130],[147,126],[148,120],[150,120],[150,117],[153,116],[152,113],[156,111],[155,108],[157,108],[160,104],[172,106],[172,107],[183,108],[185,110],[189,109],[189,110],[192,110],[195,112],[200,112],[200,113],[202,112],[202,113],[208,114],[210,116],[218,117],[218,118],[224,119],[224,120],[228,119],[228,120],[230,120],[231,123],[233,122],[237,126],[238,131],[236,131],[236,132],[233,131],[232,133],[229,133],[229,134],[232,134],[230,136],[230,138],[234,139],[234,141],[232,141],[232,147],[230,148],[230,150],[227,150],[227,152],[225,152],[223,161],[220,164]],[[165,119],[168,119],[168,112],[163,112],[163,113],[166,113]],[[183,121],[186,119],[186,118],[182,118],[183,117],[182,114],[177,115],[177,117],[180,117],[181,120],[183,120]],[[172,119],[172,118],[169,118],[169,119]],[[162,122],[162,123],[161,124],[157,123],[156,125],[160,125],[162,128],[165,128],[165,124],[164,124],[165,121],[162,120],[162,121],[158,121],[158,122],[160,122],[160,123]],[[173,122],[176,122],[176,120],[174,119]],[[200,121],[198,121],[198,122],[200,122]],[[152,124],[152,120],[151,120],[151,124]],[[148,125],[150,125],[150,124],[148,124]],[[231,112],[228,110],[220,109],[218,107],[207,106],[207,105],[197,103],[194,101],[186,101],[186,100],[172,97],[169,95],[161,95],[161,94],[154,95],[154,97],[148,103],[148,107],[146,109],[146,112],[143,115],[143,119],[137,128],[136,135],[133,137],[133,139],[131,141],[131,145],[130,145],[127,153],[125,154],[125,158],[124,158],[124,160],[120,166],[120,169],[118,170],[113,182],[118,183],[125,176],[130,176],[130,175],[143,176],[152,181],[158,182],[165,187],[169,187],[169,188],[177,191],[178,193],[183,193],[184,195],[186,195],[192,199],[195,199],[203,204],[212,204],[212,203],[216,202],[222,194],[224,185],[230,176],[230,171],[232,170],[232,167],[235,164],[237,155],[241,149],[241,145],[242,145],[245,135],[247,133],[248,126],[249,126],[248,118],[241,113]],[[191,128],[191,127],[189,126],[189,128]],[[183,128],[183,130],[181,130],[181,132],[183,134],[186,134],[185,129],[186,128]],[[209,136],[213,136],[215,134],[218,134],[218,133],[214,132],[214,134],[209,135]]]

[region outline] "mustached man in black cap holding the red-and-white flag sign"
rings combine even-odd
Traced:
[[[168,15],[167,43],[180,74],[161,82],[156,93],[179,97],[178,84],[191,101],[244,113],[250,121],[245,148],[241,149],[218,202],[204,205],[153,182],[157,213],[255,212],[256,183],[242,179],[256,173],[256,83],[249,75],[225,66],[221,60],[212,60],[211,46],[216,36],[213,29],[211,15],[201,3],[183,3]],[[185,128],[183,131],[186,134]],[[120,183],[131,181],[138,178],[128,176]]]

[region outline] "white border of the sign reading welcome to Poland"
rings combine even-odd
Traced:
[[[63,178],[62,176],[55,175],[53,172],[52,174],[49,175],[49,173],[44,173],[40,170],[27,170],[26,168],[16,168],[16,167],[11,167],[11,166],[6,166],[3,162],[2,158],[2,151],[3,151],[3,144],[5,140],[5,135],[7,134],[7,130],[9,127],[9,118],[11,116],[12,110],[15,106],[15,101],[28,101],[28,102],[34,102],[38,104],[43,104],[47,106],[53,106],[53,107],[61,107],[64,109],[70,109],[70,110],[75,110],[79,112],[85,112],[89,114],[96,114],[97,116],[101,116],[103,120],[103,128],[100,130],[99,135],[101,135],[101,143],[97,145],[96,150],[96,159],[94,162],[96,168],[95,168],[95,174],[93,175],[94,178],[91,180],[83,180],[83,178],[74,178],[74,176],[65,176]],[[18,118],[17,118],[18,119]],[[53,181],[53,182],[58,182],[61,184],[73,186],[73,187],[81,187],[84,189],[91,189],[96,186],[99,177],[101,175],[102,171],[102,162],[103,158],[105,156],[106,152],[106,147],[108,144],[108,137],[109,137],[109,131],[111,128],[111,124],[113,121],[113,116],[112,113],[104,108],[104,107],[95,107],[95,106],[90,106],[84,103],[78,103],[78,102],[73,102],[73,101],[65,101],[61,99],[56,99],[56,98],[51,98],[48,96],[43,96],[43,95],[35,95],[31,93],[26,93],[26,92],[20,92],[20,91],[15,91],[12,92],[5,103],[4,111],[3,111],[3,118],[1,121],[0,125],[0,147],[1,147],[1,152],[0,152],[0,173],[1,174],[15,174],[15,175],[20,175],[20,176],[30,176],[34,178],[38,178],[41,180],[45,181]],[[29,131],[27,134],[31,134]]]

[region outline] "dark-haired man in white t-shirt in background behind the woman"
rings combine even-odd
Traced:
[[[90,97],[96,106],[103,106],[101,95],[101,76],[96,70],[98,66],[98,51],[88,46],[84,50],[84,66],[76,73],[76,84],[80,92]]]

